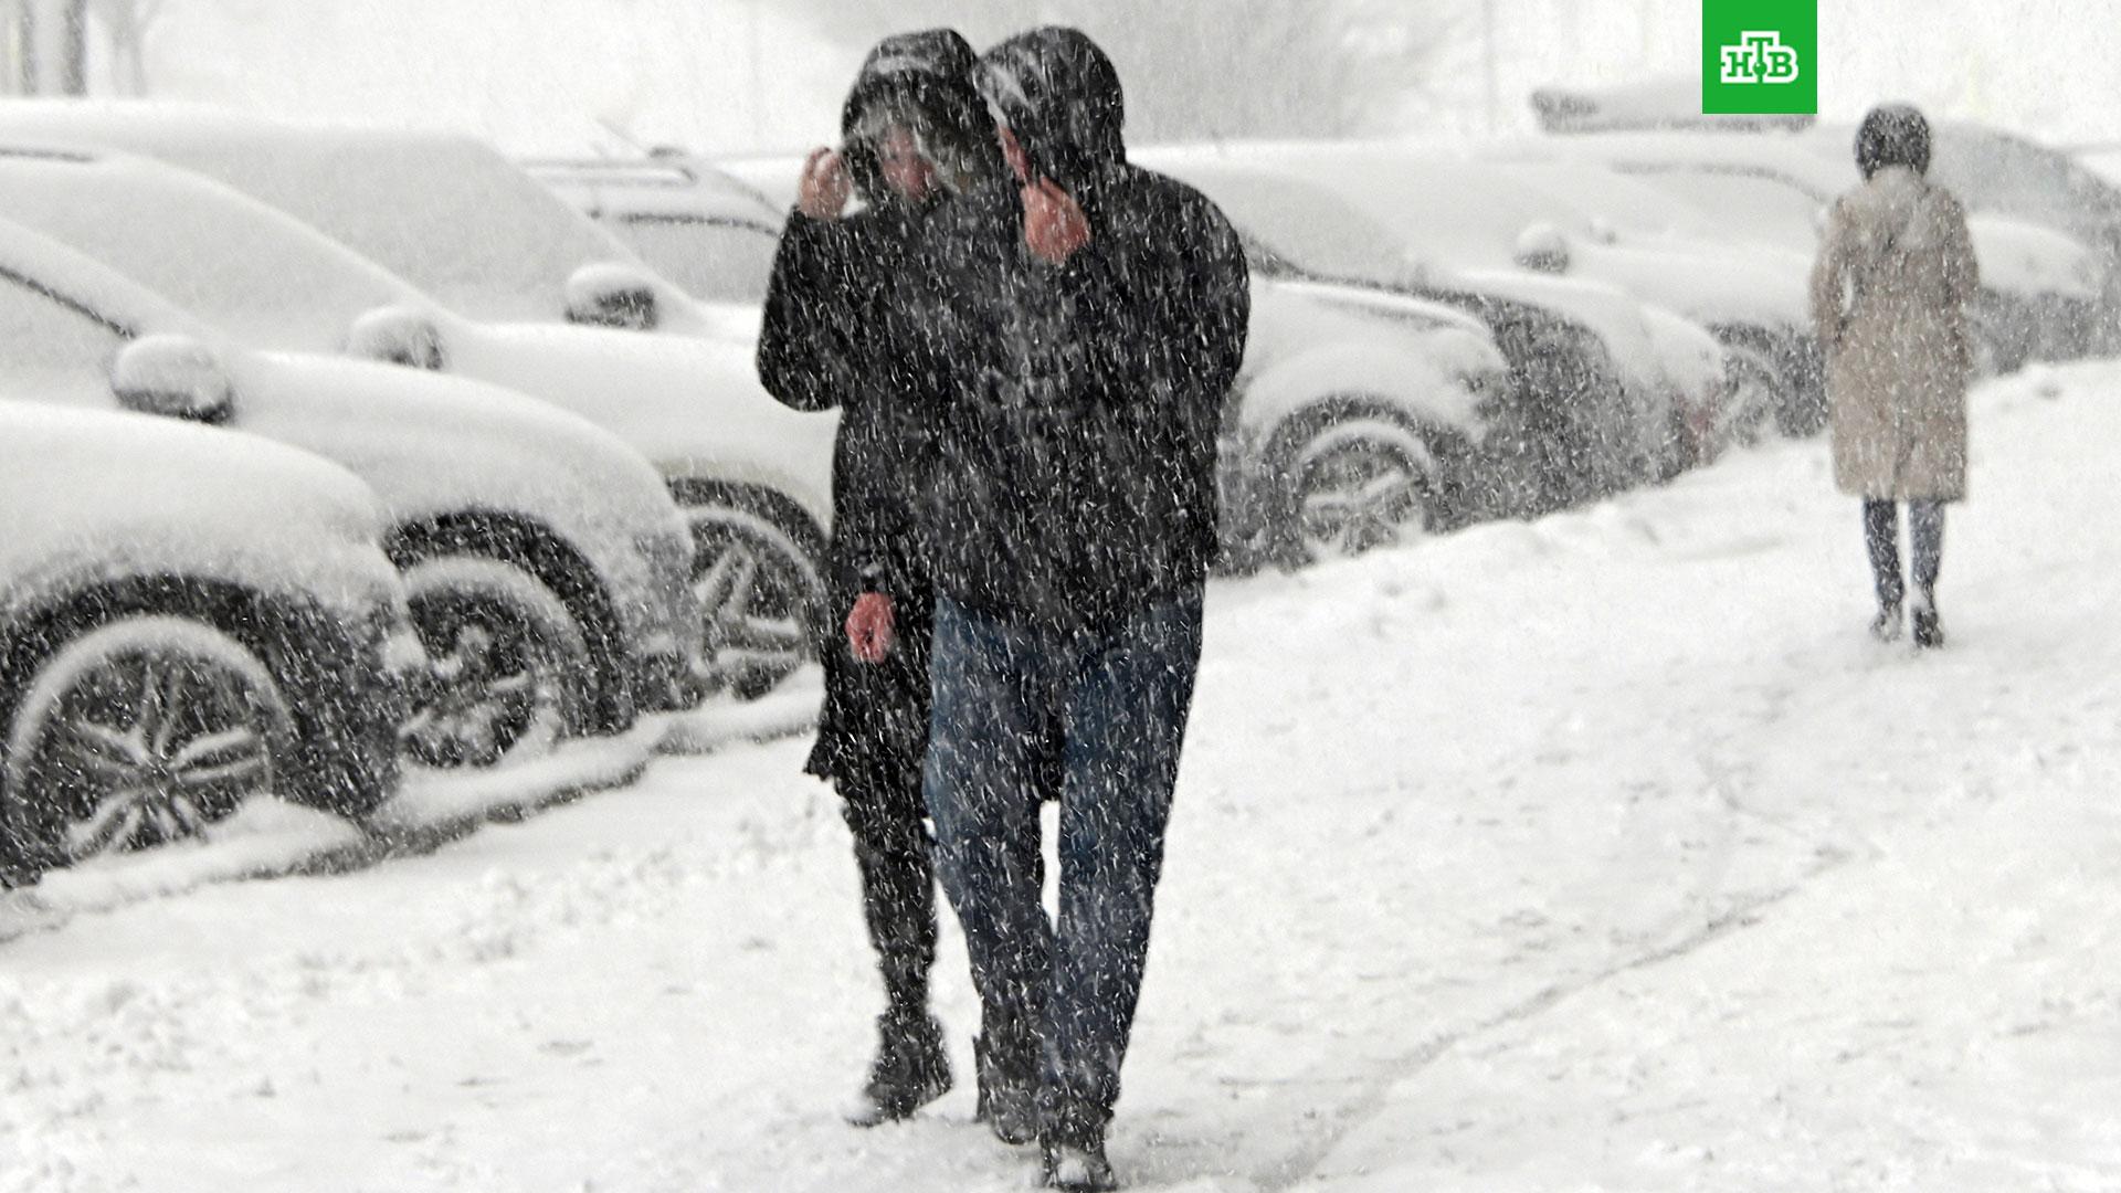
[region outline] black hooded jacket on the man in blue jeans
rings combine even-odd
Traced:
[[[1118,74],[1084,34],[1001,42],[980,91],[1092,236],[1065,265],[1033,257],[1014,178],[929,221],[901,304],[944,399],[921,435],[925,550],[961,605],[1094,628],[1207,577],[1245,257],[1215,204],[1128,166]]]

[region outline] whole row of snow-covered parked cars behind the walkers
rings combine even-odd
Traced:
[[[1816,429],[1828,140],[1139,153],[1251,259],[1226,567]],[[753,371],[795,166],[0,104],[0,877],[800,667],[836,422]],[[1968,197],[1987,363],[2104,344],[2121,219]]]

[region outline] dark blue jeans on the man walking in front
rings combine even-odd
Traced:
[[[1150,953],[1200,594],[1082,633],[935,607],[925,792],[988,1044],[1039,1047],[1048,1129],[1103,1134]],[[1039,805],[1060,800],[1060,917]]]

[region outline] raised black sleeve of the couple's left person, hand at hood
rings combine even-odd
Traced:
[[[789,212],[766,282],[759,382],[783,405],[831,410],[861,376],[863,287],[848,221]]]

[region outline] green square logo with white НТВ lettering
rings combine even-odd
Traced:
[[[1820,0],[1701,0],[1703,115],[1816,115]]]

